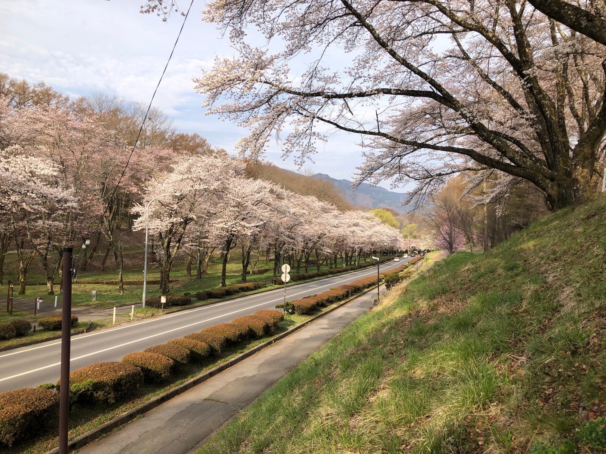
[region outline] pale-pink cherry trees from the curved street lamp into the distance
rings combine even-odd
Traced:
[[[198,274],[215,249],[222,251],[221,285],[225,286],[229,252],[242,253],[242,281],[246,280],[254,251],[274,251],[294,258],[307,271],[310,257],[319,268],[321,258],[336,263],[356,254],[402,248],[398,229],[381,223],[370,212],[341,212],[315,197],[300,196],[274,183],[245,177],[241,160],[225,154],[184,156],[165,173],[145,185],[142,203],[133,211],[141,216],[134,229],[145,228],[147,203],[163,194],[150,209],[161,272],[161,290],[168,292],[170,271],[180,249],[189,249],[198,262]],[[275,260],[275,264],[278,260]]]

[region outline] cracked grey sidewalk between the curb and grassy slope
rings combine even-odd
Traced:
[[[368,292],[210,380],[92,442],[82,454],[186,454],[368,310]]]

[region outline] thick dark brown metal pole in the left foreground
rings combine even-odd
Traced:
[[[63,248],[61,308],[61,388],[59,390],[59,454],[68,454],[70,410],[70,334],[72,331],[72,248]]]

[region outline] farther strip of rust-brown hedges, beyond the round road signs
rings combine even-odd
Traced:
[[[393,275],[399,276],[399,274],[404,271],[404,269],[418,262],[421,258],[413,259],[408,263],[400,266],[396,269],[390,269],[389,271],[383,271],[379,273],[381,278],[387,278],[394,280],[395,277]],[[387,283],[386,283],[387,284]],[[377,285],[376,276],[365,277],[356,281],[353,281],[346,285],[340,285],[333,289],[322,292],[319,295],[311,295],[309,297],[301,298],[300,300],[288,301],[287,304],[278,304],[276,308],[282,308],[285,311],[291,310],[295,314],[309,314],[311,311],[319,307],[326,306],[330,303],[335,303],[335,301],[344,300],[347,297],[350,297],[353,294],[356,294],[366,288]]]

